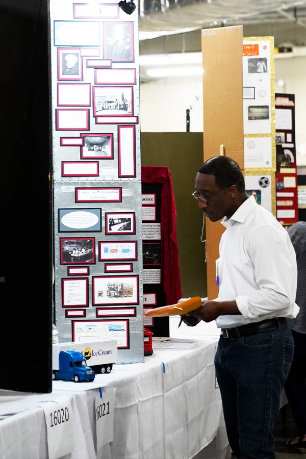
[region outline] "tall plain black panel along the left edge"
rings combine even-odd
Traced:
[[[0,388],[52,391],[48,10],[2,0]]]

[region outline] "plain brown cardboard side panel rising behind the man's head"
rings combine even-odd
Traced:
[[[202,34],[204,161],[220,154],[244,169],[242,25],[205,29]],[[208,298],[218,296],[216,265],[224,227],[206,218]]]

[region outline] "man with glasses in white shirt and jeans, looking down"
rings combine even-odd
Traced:
[[[287,231],[248,196],[231,158],[206,161],[195,179],[199,208],[226,231],[219,246],[216,300],[182,316],[194,326],[216,319],[215,356],[228,441],[237,458],[274,459],[272,430],[293,356],[286,317],[294,318],[295,252]]]

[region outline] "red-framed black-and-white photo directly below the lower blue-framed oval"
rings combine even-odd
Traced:
[[[95,238],[60,238],[61,265],[95,263]]]

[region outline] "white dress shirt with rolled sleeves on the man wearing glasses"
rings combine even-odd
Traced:
[[[296,317],[296,255],[285,228],[253,196],[221,223],[217,301],[236,300],[242,315],[219,316],[217,326]]]

